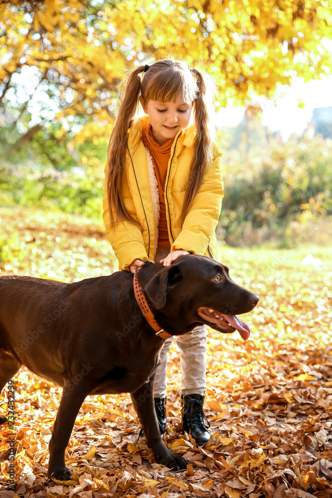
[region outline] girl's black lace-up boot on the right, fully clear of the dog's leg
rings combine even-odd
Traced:
[[[203,411],[204,398],[202,394],[181,395],[183,432],[190,433],[198,446],[202,446],[210,439],[207,430],[210,423]],[[204,423],[204,420],[208,425]]]

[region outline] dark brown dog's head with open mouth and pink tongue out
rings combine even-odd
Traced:
[[[251,311],[259,298],[237,285],[225,265],[207,256],[187,255],[171,266],[153,266],[144,290],[161,326],[172,322],[174,335],[182,335],[205,323],[223,333],[238,330],[248,339],[250,329],[236,315]],[[172,317],[177,317],[176,323]]]

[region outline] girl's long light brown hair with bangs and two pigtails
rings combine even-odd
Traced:
[[[113,228],[117,221],[127,221],[137,226],[123,202],[122,179],[126,174],[128,128],[137,116],[140,95],[145,105],[149,100],[163,103],[175,101],[178,96],[181,96],[183,102],[193,102],[197,137],[182,206],[182,225],[213,159],[213,135],[203,74],[197,69],[191,69],[185,62],[173,59],[154,62],[142,77],[144,68],[145,66],[138,66],[129,74],[109,143],[107,192],[110,214],[113,214],[110,216]]]

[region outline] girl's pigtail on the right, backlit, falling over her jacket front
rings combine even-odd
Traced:
[[[182,225],[191,208],[194,197],[202,184],[206,170],[213,160],[213,137],[210,128],[209,110],[206,102],[206,85],[200,71],[197,69],[192,69],[191,71],[196,76],[198,88],[197,97],[194,100],[194,122],[197,136],[194,145],[194,157],[181,211]]]

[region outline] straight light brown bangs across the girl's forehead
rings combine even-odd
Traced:
[[[198,87],[190,69],[184,72],[172,66],[158,71],[149,79],[143,99],[145,102],[175,102],[180,96],[183,103],[190,104],[197,93]]]

